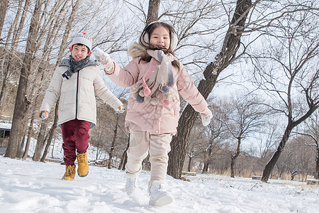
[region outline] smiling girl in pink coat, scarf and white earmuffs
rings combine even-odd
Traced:
[[[133,60],[126,67],[121,68],[99,48],[94,53],[113,82],[120,87],[130,87],[125,118],[125,128],[130,132],[126,192],[128,195],[136,192],[142,160],[150,154],[148,191],[150,204],[155,206],[172,202],[166,190],[166,175],[169,143],[177,133],[179,121],[179,94],[201,114],[203,125],[208,125],[212,116],[184,65],[174,58],[176,46],[174,28],[155,21],[144,28],[139,43],[128,48]]]

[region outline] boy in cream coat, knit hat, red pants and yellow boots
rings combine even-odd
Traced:
[[[42,105],[40,119],[47,119],[52,106],[59,102],[58,125],[62,129],[65,175],[62,180],[74,180],[77,158],[80,177],[89,173],[86,150],[89,129],[96,126],[95,94],[117,113],[123,112],[122,102],[106,87],[96,62],[89,59],[92,39],[88,33],[77,34],[69,47],[69,59],[55,69]]]

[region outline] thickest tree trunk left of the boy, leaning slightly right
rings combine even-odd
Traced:
[[[31,61],[35,47],[35,32],[38,28],[38,20],[40,16],[40,8],[42,1],[38,0],[35,3],[35,9],[30,21],[30,28],[28,39],[26,43],[26,52],[23,59],[23,67],[21,68],[20,80],[16,95],[16,104],[13,111],[11,136],[9,138],[8,148],[5,157],[16,158],[18,153],[19,138],[21,138],[23,119],[26,116],[26,109],[28,107],[28,100],[26,99],[26,89],[28,87],[28,76],[30,74]]]

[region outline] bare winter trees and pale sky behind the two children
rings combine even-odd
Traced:
[[[319,179],[318,2],[4,0],[0,3],[0,114],[12,124],[5,156],[45,161],[60,138],[57,105],[46,121],[39,107],[55,67],[69,55],[72,36],[88,32],[123,67],[126,51],[150,21],[177,31],[176,56],[207,99],[207,127],[181,102],[168,174],[182,171],[231,177]],[[101,72],[103,75],[103,72]],[[105,77],[105,76],[104,76]],[[105,77],[117,97],[128,88]],[[129,134],[124,114],[98,99],[90,131],[96,160],[123,169]],[[4,145],[4,144],[2,144]],[[114,163],[118,162],[118,163]],[[146,159],[144,168],[150,164]]]

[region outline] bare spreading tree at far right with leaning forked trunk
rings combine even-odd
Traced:
[[[316,9],[298,5],[293,13],[283,13],[262,36],[269,49],[254,58],[254,83],[267,94],[267,106],[286,118],[286,129],[279,146],[264,168],[267,182],[293,128],[318,108],[318,25]]]

